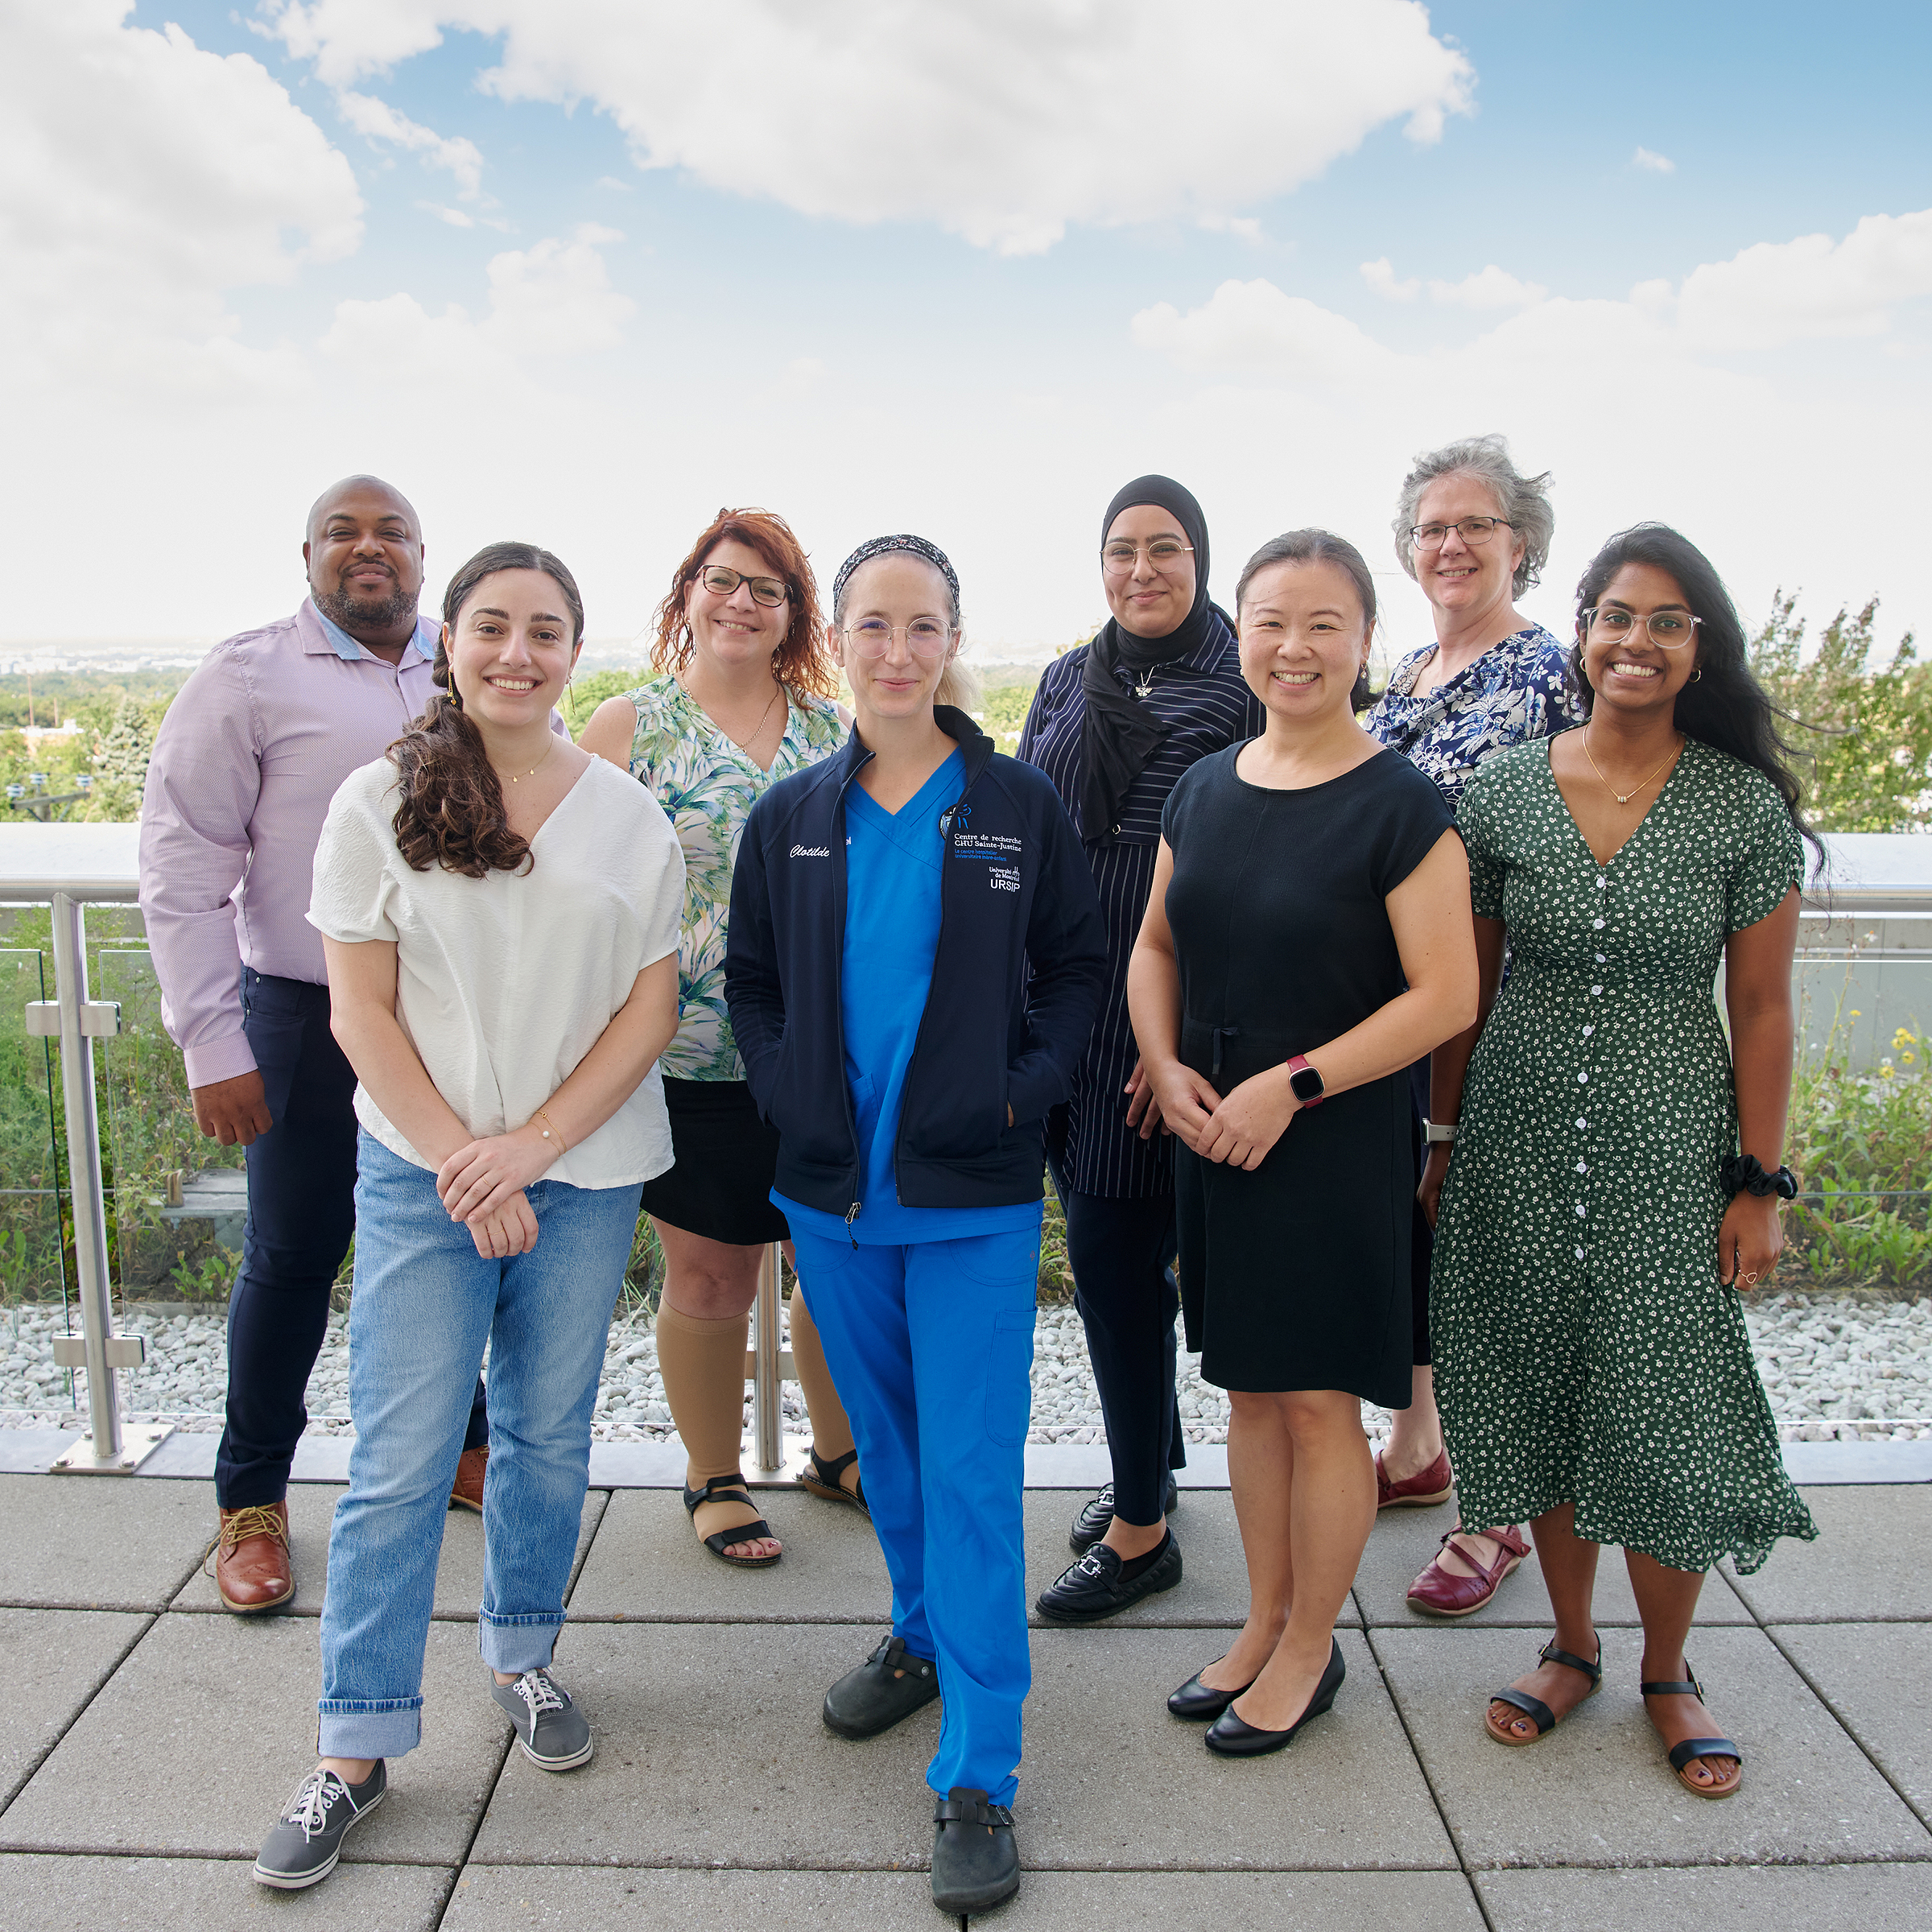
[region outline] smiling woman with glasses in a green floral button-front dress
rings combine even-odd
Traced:
[[[1422,1184],[1435,1387],[1464,1520],[1532,1519],[1557,1613],[1490,1735],[1534,1743],[1596,1690],[1596,1555],[1621,1544],[1646,1710],[1716,1799],[1743,1754],[1683,1658],[1704,1573],[1816,1536],[1741,1304],[1791,1190],[1804,827],[1731,599],[1675,531],[1584,572],[1573,674],[1588,723],[1488,759],[1457,819],[1486,1018],[1435,1053],[1430,1117],[1457,1122]]]

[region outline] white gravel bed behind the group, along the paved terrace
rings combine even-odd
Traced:
[[[1864,1437],[1915,1441],[1932,1437],[1932,1298],[1884,1300],[1872,1294],[1793,1291],[1747,1304],[1750,1339],[1787,1439]],[[122,1405],[129,1420],[218,1430],[224,1391],[226,1310],[182,1310],[137,1302],[122,1329],[147,1337],[147,1362],[126,1374]],[[52,1341],[66,1321],[58,1308],[0,1312],[0,1428],[31,1428],[85,1410],[85,1374],[71,1379],[54,1366]],[[1379,1435],[1385,1410],[1364,1405],[1364,1422]],[[746,1426],[752,1405],[746,1401]],[[1180,1422],[1188,1441],[1227,1441],[1227,1397],[1200,1379],[1200,1356],[1180,1358]],[[346,1434],[348,1316],[328,1318],[328,1339],[309,1381],[309,1428]],[[784,1385],[784,1430],[806,1435],[804,1397]],[[611,1325],[593,1432],[605,1441],[663,1441],[670,1408],[657,1374],[649,1321],[620,1316]],[[1072,1306],[1039,1310],[1034,1329],[1034,1426],[1028,1441],[1099,1443],[1107,1439],[1088,1364],[1086,1335]]]

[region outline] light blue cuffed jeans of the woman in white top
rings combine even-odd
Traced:
[[[396,1758],[423,1735],[423,1644],[450,1482],[489,1343],[491,1459],[477,1648],[551,1662],[578,1548],[591,1410],[641,1186],[526,1188],[537,1246],[475,1252],[437,1177],[357,1142],[350,1490],[328,1532],[321,1754]]]

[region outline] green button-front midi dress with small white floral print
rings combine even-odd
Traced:
[[[1511,947],[1430,1275],[1463,1520],[1573,1501],[1590,1542],[1754,1571],[1818,1530],[1718,1281],[1737,1101],[1712,987],[1725,939],[1803,885],[1791,813],[1692,738],[1600,866],[1546,740],[1486,759],[1457,829],[1476,912]]]

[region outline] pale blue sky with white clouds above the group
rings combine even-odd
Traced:
[[[1932,624],[1932,8],[0,0],[0,638],[218,638],[352,469],[431,591],[527,537],[593,638],[724,502],[951,551],[981,645],[1103,611],[1113,491],[1215,591],[1408,458],[1555,477],[1528,609],[1665,518],[1747,618]]]

